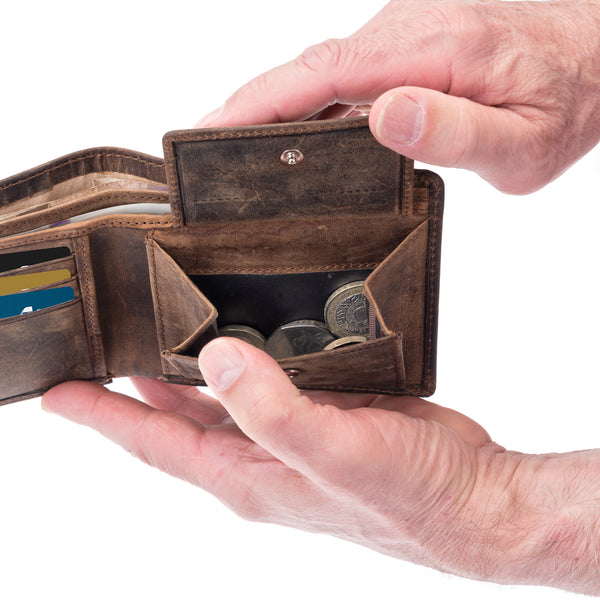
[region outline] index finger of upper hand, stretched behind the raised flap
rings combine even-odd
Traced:
[[[298,58],[249,81],[199,127],[306,120],[336,104],[369,104],[390,87],[449,89],[450,59],[409,41],[356,36],[311,46]],[[423,64],[428,66],[423,68]]]

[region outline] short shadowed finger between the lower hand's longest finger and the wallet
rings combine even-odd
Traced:
[[[144,402],[154,408],[184,415],[204,425],[231,422],[231,417],[218,400],[194,386],[146,377],[132,377],[131,382]]]

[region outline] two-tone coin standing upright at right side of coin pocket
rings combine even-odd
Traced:
[[[367,335],[369,307],[363,294],[364,281],[338,288],[325,303],[325,322],[337,337]]]

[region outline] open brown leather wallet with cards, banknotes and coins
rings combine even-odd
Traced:
[[[163,143],[0,182],[0,404],[74,379],[202,385],[203,345],[240,330],[301,389],[433,393],[435,173],[365,118]]]

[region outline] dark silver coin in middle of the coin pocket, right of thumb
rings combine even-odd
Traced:
[[[335,340],[325,323],[292,321],[278,327],[267,340],[265,350],[275,359],[320,352]]]

